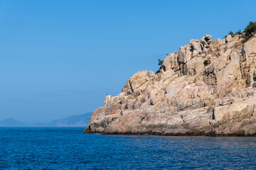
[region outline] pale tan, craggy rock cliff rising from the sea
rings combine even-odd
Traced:
[[[255,62],[255,36],[245,43],[239,35],[191,40],[158,74],[137,72],[121,94],[105,96],[85,132],[255,135]]]

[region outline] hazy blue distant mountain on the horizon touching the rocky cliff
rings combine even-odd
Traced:
[[[82,115],[70,115],[67,118],[53,120],[50,123],[46,123],[42,126],[48,127],[86,127],[90,122],[91,113],[85,113]]]

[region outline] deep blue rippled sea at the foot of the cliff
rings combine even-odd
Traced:
[[[256,169],[256,137],[83,134],[0,128],[0,169]]]

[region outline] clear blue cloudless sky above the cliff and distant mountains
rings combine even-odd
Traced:
[[[94,111],[191,39],[256,21],[256,1],[0,0],[0,120]]]

